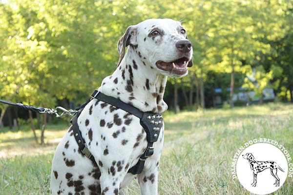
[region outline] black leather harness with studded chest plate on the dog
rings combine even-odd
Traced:
[[[142,112],[139,109],[129,104],[126,104],[117,98],[113,98],[110,96],[106,96],[105,94],[102,94],[98,90],[95,90],[92,93],[91,97],[96,98],[105,103],[111,104],[113,106],[116,106],[117,108],[120,108],[140,119],[140,124],[146,131],[147,147],[146,147],[146,151],[142,154],[142,156],[140,156],[136,165],[134,165],[128,170],[128,173],[131,173],[133,175],[140,174],[144,169],[146,158],[152,156],[154,153],[153,143],[158,140],[158,137],[160,135],[160,130],[163,125],[163,116],[161,114],[152,113],[152,112]],[[86,103],[84,103],[81,107],[78,108],[79,112],[72,118],[71,123],[72,123],[75,140],[79,146],[79,150],[91,161],[97,164],[94,156],[92,156],[92,154],[89,152],[88,148],[85,145],[84,138],[82,137],[82,134],[80,132],[80,129],[77,123],[77,118],[83,111],[86,104],[92,98],[90,98]]]

